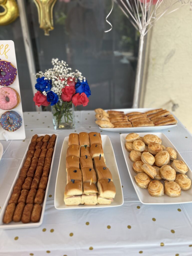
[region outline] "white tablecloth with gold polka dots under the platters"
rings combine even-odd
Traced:
[[[123,158],[120,135],[107,134],[112,142],[123,185],[124,204],[121,207],[83,210],[56,210],[54,191],[63,139],[71,132],[99,132],[93,111],[75,112],[74,130],[54,131],[50,112],[24,113],[26,139],[1,141],[4,154],[0,162],[0,207],[33,134],[58,133],[43,224],[39,228],[0,230],[1,256],[191,256],[192,204],[143,205],[130,181]],[[192,136],[179,122],[164,130],[192,169]],[[0,209],[1,211],[1,209]]]

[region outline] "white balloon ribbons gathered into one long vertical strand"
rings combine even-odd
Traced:
[[[159,7],[167,0],[114,0],[123,13],[130,20],[132,25],[140,32],[140,44],[138,52],[137,72],[135,81],[135,90],[133,98],[133,108],[138,108],[139,94],[141,87],[141,67],[143,55],[144,36],[152,28],[154,23],[164,14],[169,14],[178,10],[186,4],[191,5],[189,0],[173,0],[172,3],[164,10],[159,10]],[[179,6],[176,4],[180,4]]]

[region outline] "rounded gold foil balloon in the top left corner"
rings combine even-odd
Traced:
[[[8,25],[19,16],[18,5],[15,0],[0,0],[4,11],[0,13],[0,26]]]

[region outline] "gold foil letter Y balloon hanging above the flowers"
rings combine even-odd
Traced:
[[[53,7],[57,0],[33,0],[37,6],[39,27],[44,29],[45,36],[49,36],[49,31],[53,30]]]

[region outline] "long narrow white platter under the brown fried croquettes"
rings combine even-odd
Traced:
[[[38,134],[39,137],[40,137],[40,136],[45,136],[45,135],[46,135],[46,134]],[[49,135],[51,136],[52,134],[49,134]],[[33,137],[33,136],[32,136],[32,137]],[[32,139],[32,137],[31,137],[31,139]],[[27,150],[26,150],[26,152],[25,152],[25,155],[24,155],[24,157],[23,157],[23,159],[22,159],[22,162],[21,162],[21,164],[20,164],[20,166],[19,166],[18,172],[17,172],[17,174],[16,174],[16,176],[15,176],[15,179],[14,179],[14,181],[13,181],[13,184],[12,184],[12,186],[11,186],[11,188],[10,188],[10,191],[9,191],[9,194],[8,194],[7,199],[6,199],[6,201],[5,201],[5,204],[4,204],[4,206],[3,206],[2,210],[1,210],[1,214],[0,214],[0,229],[35,228],[35,227],[39,227],[39,226],[42,224],[42,222],[43,222],[43,216],[44,216],[44,211],[45,211],[46,200],[47,200],[47,193],[48,193],[48,189],[49,189],[49,182],[50,182],[50,177],[51,177],[51,171],[52,171],[53,162],[54,162],[54,156],[55,156],[55,150],[56,150],[57,140],[58,140],[58,134],[56,134],[56,141],[55,141],[55,146],[54,146],[54,152],[53,152],[53,155],[52,155],[51,168],[50,168],[50,172],[49,172],[49,177],[48,177],[48,182],[47,182],[47,188],[46,188],[46,190],[45,190],[44,201],[43,201],[43,203],[42,203],[42,212],[41,212],[41,218],[40,218],[39,222],[36,222],[36,223],[33,223],[33,222],[22,223],[21,221],[20,221],[20,222],[11,221],[11,222],[8,223],[8,224],[4,224],[4,223],[3,223],[3,217],[4,217],[4,214],[5,214],[5,210],[6,210],[6,207],[7,207],[7,205],[8,205],[8,201],[9,201],[9,199],[10,199],[10,196],[11,196],[11,194],[12,194],[12,192],[13,192],[13,188],[14,188],[14,186],[15,186],[15,184],[16,184],[16,182],[17,182],[17,179],[18,179],[18,177],[19,177],[20,170],[22,169],[23,164],[24,164],[24,162],[25,162],[25,159],[26,159],[26,156],[27,156],[27,151],[28,151],[29,145],[30,145],[30,143],[31,143],[31,140],[30,140],[29,145],[28,145],[28,147],[27,147]]]

